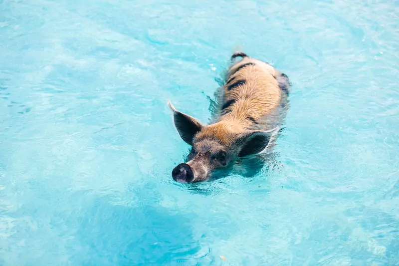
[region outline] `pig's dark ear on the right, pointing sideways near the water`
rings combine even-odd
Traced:
[[[248,155],[258,154],[261,151],[268,149],[272,144],[279,127],[271,130],[248,130],[240,134],[235,143],[238,146],[238,156],[245,157]]]

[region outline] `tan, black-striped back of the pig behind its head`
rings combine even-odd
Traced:
[[[226,79],[221,88],[219,121],[259,128],[272,124],[270,119],[280,115],[290,86],[285,74],[267,63],[244,57],[231,66]]]

